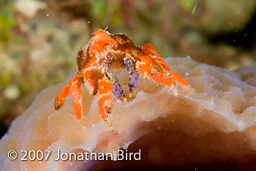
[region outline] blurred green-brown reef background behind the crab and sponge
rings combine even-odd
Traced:
[[[76,70],[98,28],[231,71],[256,61],[255,0],[0,0],[1,136],[43,88]]]

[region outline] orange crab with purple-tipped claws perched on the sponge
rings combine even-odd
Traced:
[[[77,57],[78,72],[61,89],[55,99],[55,110],[70,95],[74,100],[75,115],[78,120],[83,113],[82,92],[85,85],[89,93],[98,99],[99,114],[104,121],[110,118],[113,102],[127,102],[123,88],[113,69],[127,69],[129,72],[129,97],[135,96],[140,77],[148,78],[163,86],[176,90],[176,86],[186,87],[187,80],[171,72],[166,62],[150,43],[135,47],[124,34],[110,34],[98,29],[89,41],[88,47],[81,47]]]

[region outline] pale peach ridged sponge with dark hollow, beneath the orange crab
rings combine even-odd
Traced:
[[[116,153],[128,146],[128,151],[140,148],[143,161],[136,164],[255,159],[256,64],[230,72],[190,58],[166,61],[172,71],[188,80],[189,86],[174,96],[172,89],[141,79],[135,99],[115,102],[110,119],[113,127],[101,121],[97,101],[86,88],[82,88],[83,121],[75,118],[70,96],[60,110],[54,110],[54,98],[64,83],[46,88],[1,139],[1,168],[86,170],[96,162],[55,161],[56,151]],[[127,94],[127,72],[116,75]],[[7,159],[10,150],[18,152],[18,159]],[[47,161],[20,161],[24,156],[21,150],[51,153]]]

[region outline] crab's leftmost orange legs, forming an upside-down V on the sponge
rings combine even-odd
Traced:
[[[56,96],[54,103],[55,110],[59,110],[61,105],[64,103],[64,99],[67,97],[67,95],[72,96],[72,99],[74,99],[75,116],[78,120],[81,119],[83,110],[80,82],[80,76],[77,73],[69,80],[69,83],[67,83],[67,85],[62,88],[59,96]]]

